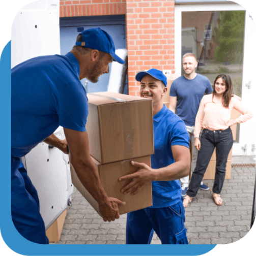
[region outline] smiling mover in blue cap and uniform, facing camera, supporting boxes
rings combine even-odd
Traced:
[[[179,181],[188,175],[190,168],[186,126],[163,104],[167,82],[161,71],[142,71],[135,79],[140,82],[140,97],[153,101],[155,153],[151,155],[152,167],[132,162],[139,167],[138,171],[120,177],[119,181],[133,179],[121,188],[124,194],[131,195],[139,193],[147,182],[152,182],[153,206],[127,214],[126,243],[150,244],[155,231],[162,244],[187,244]]]

